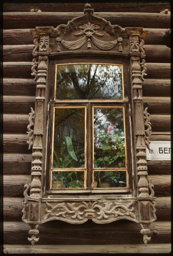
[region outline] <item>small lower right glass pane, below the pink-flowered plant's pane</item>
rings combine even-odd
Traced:
[[[94,171],[94,188],[126,187],[126,171]]]

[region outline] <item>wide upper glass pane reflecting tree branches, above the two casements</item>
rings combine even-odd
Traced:
[[[122,66],[107,64],[57,65],[56,99],[123,99]]]

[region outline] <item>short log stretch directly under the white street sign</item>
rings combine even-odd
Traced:
[[[171,160],[147,161],[149,175],[171,175]]]

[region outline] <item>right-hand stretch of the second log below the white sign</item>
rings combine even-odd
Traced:
[[[154,185],[155,196],[171,195],[171,175],[148,175]]]

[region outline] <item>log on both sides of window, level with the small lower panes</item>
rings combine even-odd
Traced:
[[[169,196],[171,194],[170,175],[148,175],[152,178],[156,196]],[[24,185],[29,175],[4,175],[4,196],[22,197]]]

